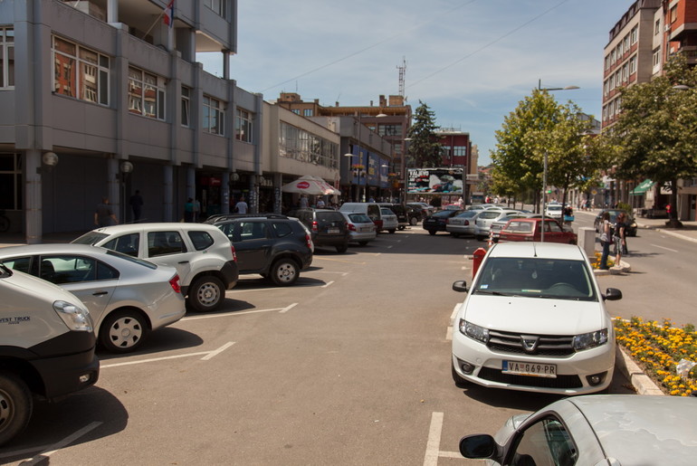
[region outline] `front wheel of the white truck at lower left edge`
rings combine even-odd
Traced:
[[[24,380],[0,373],[0,445],[24,431],[32,417],[33,398]]]

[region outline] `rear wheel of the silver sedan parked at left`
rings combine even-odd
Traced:
[[[100,343],[110,353],[128,353],[140,347],[148,334],[148,322],[135,310],[120,310],[101,323]]]

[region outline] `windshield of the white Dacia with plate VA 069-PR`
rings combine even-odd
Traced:
[[[555,300],[597,300],[585,262],[491,257],[482,265],[473,294]]]

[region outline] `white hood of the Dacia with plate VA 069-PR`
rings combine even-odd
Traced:
[[[474,294],[465,300],[462,315],[484,328],[537,335],[578,335],[609,325],[599,301]]]

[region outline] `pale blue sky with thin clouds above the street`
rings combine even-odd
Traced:
[[[543,88],[600,117],[603,49],[634,0],[238,0],[230,77],[277,100],[298,92],[321,105],[377,105],[399,93],[435,123],[470,134],[479,165],[520,100]],[[220,53],[201,53],[223,76]]]

